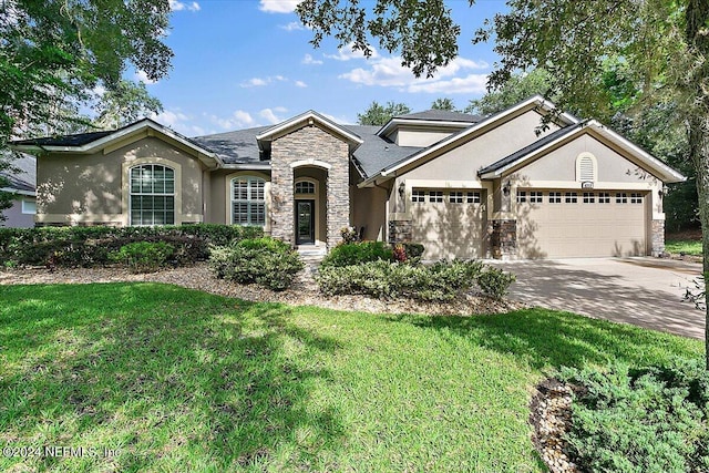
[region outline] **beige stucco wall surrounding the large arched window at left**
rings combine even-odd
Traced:
[[[127,225],[129,213],[123,200],[129,176],[124,169],[125,165],[144,164],[143,160],[155,160],[155,164],[181,169],[182,178],[176,187],[182,188],[182,218],[177,223],[201,222],[202,164],[186,152],[155,137],[141,138],[107,154],[40,156],[37,169],[38,222]]]

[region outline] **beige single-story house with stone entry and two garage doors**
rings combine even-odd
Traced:
[[[664,251],[665,184],[685,177],[594,120],[534,96],[493,116],[427,111],[383,126],[309,111],[187,138],[152,120],[24,140],[38,225],[259,225],[331,248],[340,229],[415,241],[424,257]]]

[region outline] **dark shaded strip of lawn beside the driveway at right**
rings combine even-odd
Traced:
[[[668,357],[703,356],[696,340],[541,308],[473,317],[393,316],[443,337],[463,337],[534,369],[605,366],[610,361],[647,364]]]

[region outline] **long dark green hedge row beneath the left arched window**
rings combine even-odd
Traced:
[[[111,263],[110,254],[135,241],[163,241],[175,248],[174,264],[206,259],[208,245],[263,237],[260,227],[183,225],[164,227],[0,228],[2,266],[88,267]]]

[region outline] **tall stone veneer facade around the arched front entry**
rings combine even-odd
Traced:
[[[270,218],[271,235],[296,244],[294,209],[294,168],[297,161],[317,160],[329,164],[327,192],[327,246],[333,248],[341,239],[340,229],[349,225],[349,147],[348,144],[319,128],[306,125],[271,143]],[[317,166],[316,166],[317,167]]]

